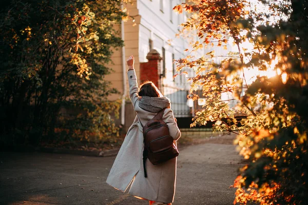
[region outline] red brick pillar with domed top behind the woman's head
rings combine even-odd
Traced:
[[[146,80],[152,81],[160,90],[160,76],[161,76],[161,59],[159,52],[155,49],[151,49],[147,54],[147,63],[140,63],[140,82],[143,83]]]

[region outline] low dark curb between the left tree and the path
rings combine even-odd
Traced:
[[[111,157],[111,156],[116,156],[120,149],[112,149],[105,151],[87,151],[87,150],[70,150],[65,148],[12,146],[12,147],[6,147],[2,150],[13,151],[13,152],[47,152],[55,154],[73,154],[73,155],[92,156],[92,157]]]

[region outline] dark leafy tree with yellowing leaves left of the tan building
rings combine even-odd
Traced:
[[[119,103],[104,76],[123,45],[121,1],[18,0],[0,9],[1,144],[117,135]],[[93,140],[91,139],[91,140]]]

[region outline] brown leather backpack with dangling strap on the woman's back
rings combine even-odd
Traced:
[[[174,139],[170,136],[169,128],[163,120],[165,108],[150,119],[143,127],[143,169],[144,177],[147,177],[145,161],[148,158],[153,165],[165,162],[179,155],[174,144]]]

